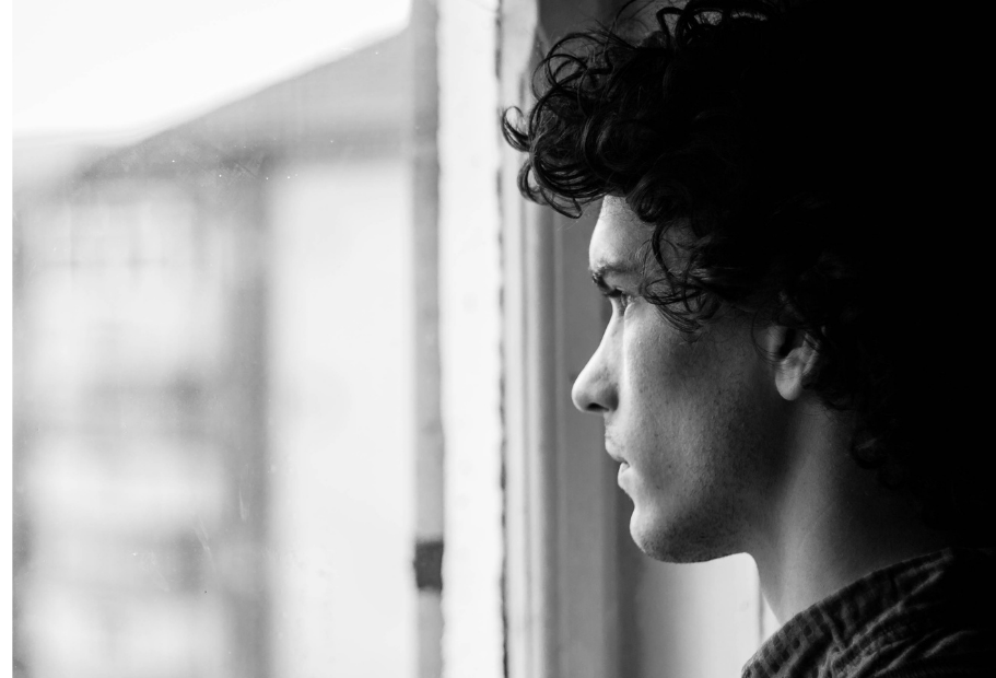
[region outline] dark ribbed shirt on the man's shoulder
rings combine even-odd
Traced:
[[[742,678],[996,677],[993,564],[945,549],[872,572],[789,619]]]

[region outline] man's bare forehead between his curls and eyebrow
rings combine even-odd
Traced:
[[[630,209],[625,200],[607,196],[601,203],[598,223],[588,245],[588,262],[593,271],[601,268],[643,265],[654,226]]]

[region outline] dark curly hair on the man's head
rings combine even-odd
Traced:
[[[958,436],[930,418],[959,411],[929,389],[950,371],[928,375],[930,337],[911,331],[951,296],[917,239],[959,187],[939,172],[954,168],[950,120],[919,19],[886,9],[690,0],[649,30],[572,33],[503,131],[528,153],[528,198],[578,217],[620,197],[654,225],[643,292],[675,326],[693,336],[729,307],[804,332],[818,349],[807,388],[854,412],[857,464],[929,524],[977,538],[983,455],[940,463]]]

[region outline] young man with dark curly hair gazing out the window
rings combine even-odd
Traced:
[[[902,10],[669,7],[558,43],[505,120],[526,196],[602,200],[574,401],[644,552],[757,561],[784,626],[745,676],[996,666],[974,128]]]

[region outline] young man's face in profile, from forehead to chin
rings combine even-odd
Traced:
[[[743,550],[765,519],[785,402],[749,322],[720,313],[692,340],[640,296],[652,233],[624,200],[605,199],[589,264],[612,317],[572,395],[605,419],[636,545],[698,562]]]

